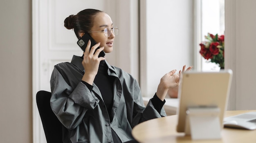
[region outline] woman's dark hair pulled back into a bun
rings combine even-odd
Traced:
[[[76,15],[70,15],[64,20],[64,26],[67,29],[73,29],[76,37],[79,38],[79,32],[86,33],[91,30],[93,20],[97,13],[103,12],[97,9],[85,9]]]

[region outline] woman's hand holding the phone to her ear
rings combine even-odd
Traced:
[[[83,52],[82,65],[85,69],[85,74],[83,75],[82,80],[90,85],[92,85],[94,78],[98,73],[100,61],[105,60],[104,57],[98,57],[99,53],[104,49],[104,47],[101,47],[98,50],[96,50],[96,48],[98,48],[99,45],[100,43],[95,44],[94,46],[92,46],[92,49],[90,50],[91,41],[89,40],[85,48],[85,52]]]

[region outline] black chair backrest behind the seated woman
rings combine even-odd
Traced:
[[[47,143],[63,143],[62,128],[63,125],[52,112],[50,106],[51,93],[48,91],[38,91],[36,93],[36,104],[45,131]]]

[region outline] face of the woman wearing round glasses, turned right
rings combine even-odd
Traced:
[[[108,14],[100,12],[94,17],[91,31],[103,31],[105,28],[113,28],[113,22]],[[90,35],[96,43],[101,43],[100,47],[104,47],[104,52],[112,52],[115,39],[112,30],[110,37],[106,37],[104,32],[91,32]]]

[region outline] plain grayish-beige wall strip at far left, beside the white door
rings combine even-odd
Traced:
[[[32,143],[31,0],[1,0],[0,18],[0,143]]]

